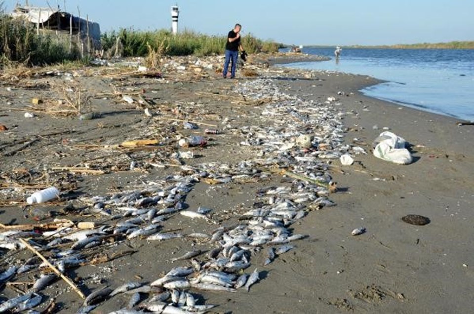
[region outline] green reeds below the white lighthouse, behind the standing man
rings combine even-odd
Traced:
[[[150,48],[156,50],[160,47],[163,47],[163,52],[169,56],[207,56],[224,53],[226,37],[208,36],[189,30],[173,35],[166,30],[143,32],[121,29],[118,33],[103,34],[101,41],[105,51],[118,49],[124,57],[143,57],[148,54]],[[276,52],[279,47],[276,42],[257,39],[251,34],[242,37],[242,45],[247,53]]]

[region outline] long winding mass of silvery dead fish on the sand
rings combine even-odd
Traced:
[[[240,145],[255,149],[252,158],[236,164],[202,163],[198,168],[183,166],[186,175],[150,181],[133,191],[112,196],[82,199],[90,203],[90,213],[103,215],[105,221],[100,227],[79,231],[65,227],[42,234],[8,231],[0,234],[0,248],[23,248],[19,238],[29,238],[30,245],[65,273],[86,263],[86,250],[110,246],[108,239],[111,237],[116,241],[203,240],[201,249],[171,259],[171,262],[189,262],[187,266],[175,267],[152,282],[132,281],[115,289],[97,289],[85,299],[79,313],[88,313],[118,294],[129,294],[130,302],[127,309],[114,313],[204,313],[214,305],[198,304],[198,291],[234,292],[242,287],[248,291],[261,276],[255,266],[253,271],[247,271],[252,266],[252,257],[263,251],[265,262],[259,267],[266,267],[279,255],[295,248],[294,241],[306,237],[293,234],[289,227],[305,217],[310,205],[313,208],[333,205],[327,198],[328,188],[311,182],[328,184],[331,176],[327,158],[338,158],[350,148],[341,144],[345,130],[335,106],[286,95],[271,79],[239,84],[236,92],[249,98],[273,99],[262,112],[265,123],[234,130],[243,137]],[[232,131],[232,127],[228,130]],[[310,146],[298,145],[296,139],[301,135],[311,135]],[[256,191],[259,201],[253,208],[234,211],[238,223],[231,226],[222,224],[211,233],[164,231],[170,230],[166,228],[167,220],[175,215],[202,219],[210,225],[214,223],[213,212],[218,212],[219,208],[191,210],[185,203],[186,196],[201,180],[211,178],[219,184],[231,184],[242,178],[264,178],[272,175],[267,170],[275,165],[291,168],[294,173],[312,180],[288,180],[281,186]],[[15,260],[10,262],[18,263]],[[32,258],[3,271],[0,283],[46,268],[39,258]],[[38,306],[46,299],[40,291],[57,279],[56,275],[41,275],[26,294],[3,301],[0,313],[20,312]]]

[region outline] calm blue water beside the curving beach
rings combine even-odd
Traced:
[[[331,60],[286,66],[382,79],[387,82],[362,92],[399,105],[474,120],[474,50],[343,48],[337,63],[334,48],[305,47],[303,53]]]

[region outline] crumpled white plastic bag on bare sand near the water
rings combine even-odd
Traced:
[[[385,131],[374,140],[374,156],[397,164],[412,162],[410,152],[405,148],[405,140],[392,132]]]

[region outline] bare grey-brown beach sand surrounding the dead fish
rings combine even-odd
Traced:
[[[274,72],[270,72],[270,76],[285,93],[318,102],[324,102],[329,96],[337,97],[339,105],[334,106],[346,113],[344,123],[349,128],[345,141],[353,143],[357,138],[362,142],[357,146],[369,154],[355,156],[356,163],[351,166],[342,166],[339,160],[332,162],[332,175],[339,190],[330,199],[337,206],[311,211],[292,225],[294,233],[309,237],[298,241],[295,250],[269,266],[262,266],[263,254],[253,257],[249,270],[258,267],[263,278],[249,293],[243,290],[202,293],[206,304],[218,304],[215,313],[471,312],[473,126],[457,126],[452,118],[399,107],[358,92],[361,87],[376,83],[375,79],[335,73],[309,76],[304,71],[280,70],[275,66],[271,69]],[[53,91],[25,88],[7,81],[1,86],[2,107],[21,111],[0,111],[0,123],[9,128],[0,133],[3,155],[0,182],[3,188],[13,186],[15,182],[23,186],[27,183],[59,185],[63,201],[39,206],[47,211],[59,211],[67,201],[80,209],[78,197],[128,190],[143,181],[153,181],[179,171],[175,167],[145,167],[145,161],[150,161],[145,156],[149,152],[117,152],[78,146],[113,145],[129,139],[157,137],[169,144],[157,150],[153,162],[159,163],[176,149],[175,138],[166,138],[166,132],[174,135],[192,133],[183,130],[179,123],[173,125],[169,120],[146,117],[136,104],[129,106],[119,101],[110,95],[112,84],[123,94],[144,91],[143,97],[153,102],[154,108],[166,117],[173,117],[178,108],[183,117],[209,124],[219,125],[229,118],[237,126],[258,125],[263,108],[258,104],[231,102],[241,101],[232,90],[236,84],[249,80],[242,77],[224,80],[211,72],[201,78],[171,75],[166,78],[165,74],[165,79],[169,79],[166,83],[155,79],[110,78],[103,73],[76,73],[79,76],[75,80],[94,95],[92,109],[101,112],[102,118],[80,121],[37,112],[38,118],[27,119],[23,114],[31,99],[53,99]],[[30,78],[30,82],[50,84],[62,79],[64,76]],[[6,86],[13,90],[6,91]],[[339,91],[345,95],[337,95]],[[109,96],[97,96],[101,92],[109,93]],[[7,102],[11,104],[7,105]],[[412,164],[396,165],[371,154],[372,141],[383,127],[390,128],[410,143],[414,156]],[[189,163],[202,160],[231,163],[244,159],[252,152],[238,145],[241,140],[233,134],[211,136],[211,145],[195,149],[197,158]],[[33,142],[23,147],[30,141]],[[138,160],[142,167],[129,170],[132,159]],[[107,173],[82,175],[51,170],[54,166],[85,164],[94,169],[105,169]],[[232,183],[223,187],[199,183],[186,202],[190,208],[213,207],[216,221],[232,224],[233,221],[227,220],[232,212],[250,208],[255,191],[269,186],[272,180],[280,182],[282,178],[275,176],[270,182]],[[1,223],[32,223],[24,203],[25,196],[32,190],[3,191]],[[426,226],[406,224],[401,220],[406,214],[427,216],[431,223]],[[75,221],[84,219],[79,215],[66,217]],[[89,218],[94,219],[97,218]],[[207,233],[216,228],[183,217],[173,217],[171,225]],[[366,233],[352,236],[351,231],[357,227],[366,228]],[[199,247],[200,244],[196,245]],[[86,293],[104,285],[115,287],[128,280],[155,280],[178,264],[171,264],[170,257],[193,247],[196,246],[191,246],[190,241],[182,240],[166,244],[147,243],[141,239],[124,241],[114,250],[136,251],[131,256],[107,264],[76,268],[68,275],[76,282],[82,282],[81,289]],[[0,269],[6,269],[8,263],[15,263],[17,259],[29,257],[31,253],[25,250],[14,255],[5,252],[1,255]],[[186,262],[181,264],[186,265]],[[15,281],[32,279],[29,275],[16,277]],[[16,295],[8,286],[3,287],[1,293],[5,297]],[[62,281],[56,281],[43,294],[56,297],[58,313],[74,313],[81,303],[78,295]],[[108,313],[127,302],[128,297],[113,298],[92,313]],[[43,302],[45,304],[47,302]]]

